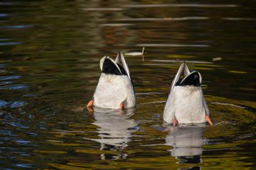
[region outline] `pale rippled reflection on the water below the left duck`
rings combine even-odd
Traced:
[[[127,108],[124,111],[104,108],[93,108],[93,116],[97,125],[98,137],[91,139],[100,143],[100,150],[122,150],[131,141],[132,132],[138,130],[135,120],[130,119],[134,115],[135,108]],[[106,155],[102,154],[102,159],[124,159],[127,154]]]

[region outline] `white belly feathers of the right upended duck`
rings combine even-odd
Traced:
[[[164,121],[172,123],[204,123],[206,111],[201,86],[174,86],[164,108]]]

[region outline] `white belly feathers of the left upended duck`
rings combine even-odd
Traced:
[[[100,108],[119,108],[120,103],[130,108],[136,103],[132,82],[124,75],[102,73],[93,98],[94,105]]]

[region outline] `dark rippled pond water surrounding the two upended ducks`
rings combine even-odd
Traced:
[[[255,6],[1,1],[0,169],[254,169]],[[89,113],[100,58],[142,47],[144,62],[126,57],[137,108]],[[213,126],[163,124],[181,60],[203,75]]]

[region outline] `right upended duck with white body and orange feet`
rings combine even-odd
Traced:
[[[183,72],[184,77],[181,78]],[[189,70],[183,61],[171,83],[166,105],[164,107],[164,121],[173,123],[213,123],[210,111],[201,88],[202,76],[196,70]]]

